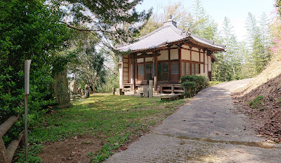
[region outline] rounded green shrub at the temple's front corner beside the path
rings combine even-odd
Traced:
[[[183,76],[181,77],[181,87],[185,89],[185,95],[192,97],[200,90],[209,86],[209,79],[206,76]]]

